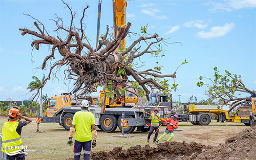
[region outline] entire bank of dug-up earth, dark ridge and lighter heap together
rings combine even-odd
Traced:
[[[256,159],[256,127],[245,129],[237,135],[226,139],[219,146],[205,146],[196,142],[189,144],[179,142],[160,143],[156,147],[140,145],[122,150],[116,147],[110,152],[91,153],[92,159]]]

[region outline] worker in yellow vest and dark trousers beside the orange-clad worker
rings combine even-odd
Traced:
[[[150,142],[150,136],[155,130],[156,133],[155,133],[153,142],[156,143],[158,128],[159,128],[159,119],[160,119],[160,114],[158,113],[157,107],[155,108],[154,113],[151,114],[150,119],[151,119],[151,126],[150,126],[150,132],[148,132],[148,135],[147,135],[147,142]]]

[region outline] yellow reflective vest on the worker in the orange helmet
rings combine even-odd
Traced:
[[[18,122],[8,121],[3,125],[3,139],[2,139],[2,148],[1,150],[8,155],[15,155],[20,153],[22,146],[22,138],[16,132],[18,127]]]

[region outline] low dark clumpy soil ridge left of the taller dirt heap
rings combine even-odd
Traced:
[[[191,142],[165,142],[160,143],[155,148],[150,145],[141,147],[140,145],[122,150],[122,147],[116,147],[110,152],[91,153],[92,159],[177,159],[179,156],[189,157],[192,154],[199,154],[203,148],[209,148],[205,145]]]

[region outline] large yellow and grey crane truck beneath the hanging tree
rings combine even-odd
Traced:
[[[100,93],[100,97],[102,97],[103,92],[101,91]],[[113,132],[117,127],[121,130],[122,113],[124,113],[126,120],[125,133],[133,132],[136,127],[137,131],[142,132],[150,129],[150,113],[154,111],[154,107],[137,106],[137,96],[127,91],[125,93],[125,103],[120,101],[120,103],[115,102],[112,105],[111,99],[106,98],[105,112],[103,114],[101,113],[101,107],[94,105],[94,101],[90,96],[75,97],[68,93],[63,93],[60,96],[55,95],[48,102],[46,116],[38,117],[36,122],[38,124],[59,123],[59,125],[69,130],[74,113],[81,110],[80,103],[84,99],[91,102],[88,110],[95,116],[95,125],[105,132]],[[170,117],[170,109],[169,107],[161,106],[159,109],[161,118]]]

